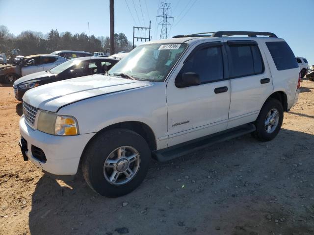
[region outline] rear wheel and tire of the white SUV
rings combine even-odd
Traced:
[[[278,118],[271,118],[275,114],[275,111],[278,112]],[[270,115],[269,115],[270,114]],[[274,116],[275,117],[275,116]],[[266,121],[268,124],[266,125]],[[282,104],[277,99],[268,99],[255,121],[256,131],[252,135],[260,141],[271,141],[279,133],[281,126],[284,120],[284,109]],[[271,125],[274,123],[274,125]],[[277,125],[275,125],[277,123]],[[271,128],[269,129],[269,126]],[[267,130],[266,130],[267,129]]]

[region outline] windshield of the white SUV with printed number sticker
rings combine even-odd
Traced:
[[[162,82],[178,61],[187,44],[147,44],[134,48],[117,63],[109,75],[128,74],[138,80]]]

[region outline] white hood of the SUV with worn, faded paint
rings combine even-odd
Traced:
[[[36,108],[57,112],[60,107],[79,100],[152,84],[154,82],[95,74],[53,82],[30,89],[23,96],[23,100]]]

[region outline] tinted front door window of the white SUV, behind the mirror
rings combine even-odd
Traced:
[[[223,58],[221,47],[206,47],[196,51],[185,61],[180,75],[184,72],[196,72],[201,83],[223,79]]]

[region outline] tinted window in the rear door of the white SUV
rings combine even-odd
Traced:
[[[229,47],[230,78],[260,74],[263,61],[257,45],[233,45]]]

